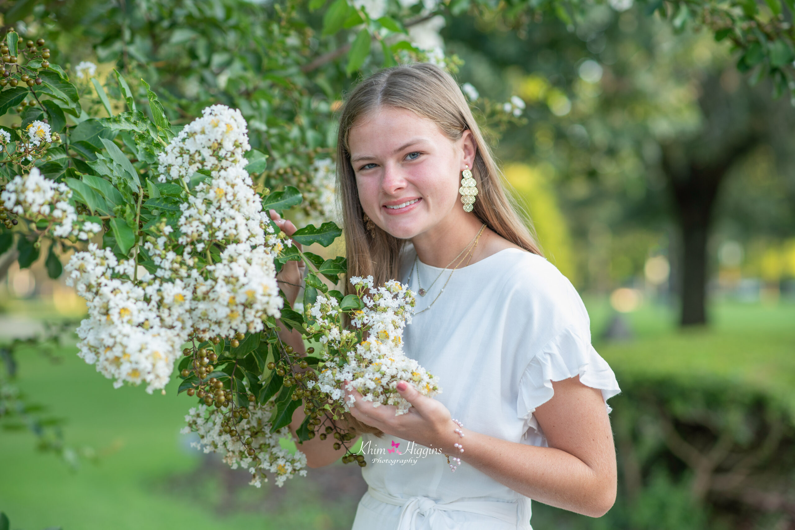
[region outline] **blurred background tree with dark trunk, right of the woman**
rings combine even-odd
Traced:
[[[682,325],[707,321],[708,236],[718,213],[722,222],[742,212],[748,231],[795,232],[792,108],[770,98],[768,83],[749,86],[710,35],[594,6],[576,38],[555,21],[522,38],[475,18],[445,36],[462,74],[486,80],[483,92],[515,90],[528,102],[528,125],[506,135],[501,152],[553,171],[580,244],[599,244],[598,222],[678,225]],[[773,157],[766,179],[777,183],[757,189],[756,205],[735,194],[719,209],[724,182],[760,150]]]

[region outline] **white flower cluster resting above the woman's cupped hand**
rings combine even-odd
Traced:
[[[317,385],[321,392],[330,394],[335,401],[344,396],[343,382],[350,381],[347,390],[359,390],[365,401],[375,406],[395,405],[396,415],[404,414],[411,406],[397,392],[397,383],[406,381],[428,397],[440,394],[439,378],[425,371],[414,359],[405,356],[402,349],[403,328],[411,322],[413,293],[400,282],[390,281],[374,289],[373,278],[353,277],[351,283],[357,292],[369,290],[362,301],[365,307],[356,311],[351,325],[366,332],[367,338],[356,344],[356,333],[340,325],[339,305],[333,298],[318,296],[308,313],[320,326],[325,345],[323,353],[327,363],[320,370],[317,382],[309,381],[310,388]],[[332,351],[346,351],[343,363],[335,363]],[[345,410],[353,405],[342,400]]]

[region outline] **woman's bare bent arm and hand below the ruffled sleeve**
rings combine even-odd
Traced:
[[[615,447],[607,409],[601,392],[579,377],[553,382],[554,397],[535,411],[549,447],[501,440],[466,426],[462,439],[444,405],[413,386],[401,386],[401,395],[413,405],[408,414],[395,417],[393,406],[373,407],[358,392],[351,413],[388,434],[440,447],[536,501],[591,517],[603,516],[615,502]],[[457,442],[463,453],[453,447]]]

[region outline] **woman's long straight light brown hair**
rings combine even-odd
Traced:
[[[478,198],[472,210],[480,221],[500,236],[533,254],[543,255],[528,229],[529,217],[506,194],[504,177],[483,140],[471,109],[452,76],[430,63],[401,65],[371,75],[359,83],[343,106],[337,141],[337,189],[340,190],[343,229],[347,252],[347,274],[372,275],[376,285],[400,275],[401,250],[405,240],[376,227],[370,234],[364,225],[364,210],[351,166],[348,136],[359,119],[381,106],[410,110],[439,126],[444,136],[456,141],[469,129],[475,138],[472,174]],[[462,205],[463,207],[463,205]],[[522,221],[525,217],[525,221]],[[347,291],[351,292],[346,282]]]

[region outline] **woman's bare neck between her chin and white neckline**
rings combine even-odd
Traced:
[[[411,238],[422,263],[431,267],[447,267],[483,226],[473,213],[451,217],[454,216],[445,217],[431,229]]]

